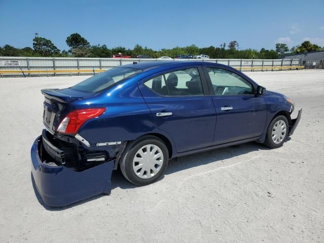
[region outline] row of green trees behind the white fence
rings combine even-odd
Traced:
[[[309,41],[303,42],[301,45],[295,46],[291,49],[286,44],[275,44],[275,50],[266,50],[262,48],[260,51],[256,49],[239,48],[237,41],[232,41],[228,45],[223,43],[217,47],[210,46],[198,48],[196,45],[187,47],[174,47],[172,49],[153,50],[141,45],[135,45],[133,49],[126,49],[125,47],[114,47],[109,49],[106,45],[90,45],[86,38],[78,33],[73,33],[66,38],[66,44],[69,50],[59,50],[50,39],[39,36],[35,33],[33,38],[33,48],[15,48],[10,45],[0,46],[0,56],[9,57],[112,57],[118,53],[136,57],[138,55],[148,55],[152,58],[161,56],[168,56],[176,58],[178,55],[199,55],[204,54],[210,58],[233,58],[233,59],[277,59],[289,54],[298,54],[311,51],[324,50]]]

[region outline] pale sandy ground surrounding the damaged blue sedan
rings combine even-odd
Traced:
[[[39,203],[30,177],[39,90],[85,76],[1,78],[0,242],[324,242],[324,71],[247,74],[304,109],[283,147],[181,157],[145,187],[116,171],[111,195],[57,209]]]

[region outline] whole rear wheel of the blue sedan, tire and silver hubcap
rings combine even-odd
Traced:
[[[157,181],[165,172],[169,152],[163,141],[144,136],[131,142],[120,159],[120,170],[127,180],[143,186]]]

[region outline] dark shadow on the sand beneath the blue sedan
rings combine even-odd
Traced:
[[[218,148],[218,149],[213,149],[210,151],[199,152],[199,153],[195,153],[195,154],[191,154],[191,155],[182,156],[182,157],[179,157],[178,159],[171,159],[169,161],[169,165],[168,165],[168,168],[167,168],[167,171],[165,174],[170,175],[170,174],[182,171],[182,170],[198,167],[201,165],[207,165],[210,163],[221,163],[221,161],[224,159],[236,157],[236,156],[239,156],[242,154],[247,154],[249,152],[259,151],[259,150],[269,150],[269,148],[267,148],[257,142],[250,142],[250,143],[233,145],[230,147]],[[161,177],[159,180],[161,180],[161,179],[163,179],[163,177]],[[35,195],[36,195],[39,203],[46,210],[49,210],[49,211],[66,210],[66,209],[73,208],[78,205],[85,204],[88,201],[95,200],[97,198],[105,196],[104,194],[101,194],[101,195],[90,197],[85,200],[78,201],[78,202],[70,204],[68,206],[51,207],[51,206],[47,206],[44,204],[42,197],[37,192],[32,174],[31,174],[31,181],[32,181],[32,186],[33,186]],[[121,189],[133,189],[133,188],[137,187],[136,185],[129,182],[123,176],[119,167],[116,171],[113,171],[112,175],[111,175],[111,193],[113,194],[113,189],[118,188],[118,187]]]

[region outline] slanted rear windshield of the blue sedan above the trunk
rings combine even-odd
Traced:
[[[89,77],[83,82],[72,86],[70,89],[83,92],[98,93],[104,89],[109,88],[113,84],[116,84],[117,82],[120,82],[140,72],[142,72],[142,70],[135,68],[114,67],[105,72]]]

